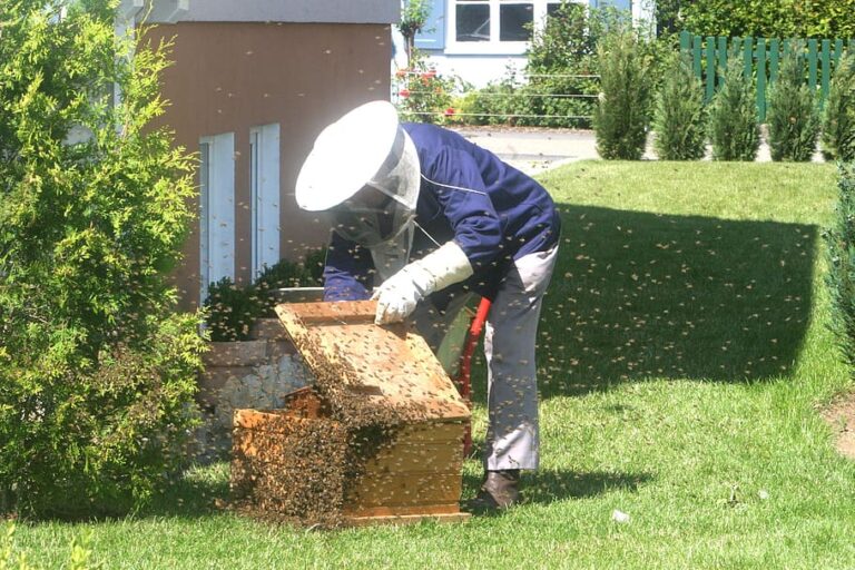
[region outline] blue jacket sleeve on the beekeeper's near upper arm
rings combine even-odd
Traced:
[[[475,159],[443,149],[431,160],[425,177],[472,268],[478,272],[493,265],[502,253],[502,225]]]

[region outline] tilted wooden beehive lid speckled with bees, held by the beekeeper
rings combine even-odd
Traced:
[[[468,419],[424,338],[403,324],[375,325],[375,301],[284,303],[276,314],[340,413],[368,406],[404,423]]]

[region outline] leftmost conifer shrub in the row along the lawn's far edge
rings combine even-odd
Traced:
[[[593,115],[597,151],[606,159],[638,160],[645,153],[651,61],[630,31],[606,36],[599,48],[600,101]]]

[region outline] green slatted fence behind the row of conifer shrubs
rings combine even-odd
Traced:
[[[716,87],[724,80],[724,70],[728,53],[736,49],[741,53],[745,77],[754,77],[757,87],[757,116],[766,118],[766,100],[769,85],[778,76],[780,58],[788,53],[796,42],[803,42],[807,58],[808,85],[818,89],[819,105],[828,97],[828,83],[834,68],[844,52],[844,48],[855,50],[855,39],[845,42],[842,39],[768,39],[768,38],[720,38],[695,36],[688,31],[680,33],[680,49],[692,58],[695,75],[705,86],[706,100],[712,98]]]

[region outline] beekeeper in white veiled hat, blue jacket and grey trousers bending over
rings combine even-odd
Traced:
[[[299,171],[301,208],[334,232],[326,301],[377,301],[376,323],[411,318],[435,350],[470,293],[487,320],[489,425],[473,508],[519,500],[539,461],[534,348],[560,220],[537,181],[462,136],[401,124],[373,101],[325,128]]]

